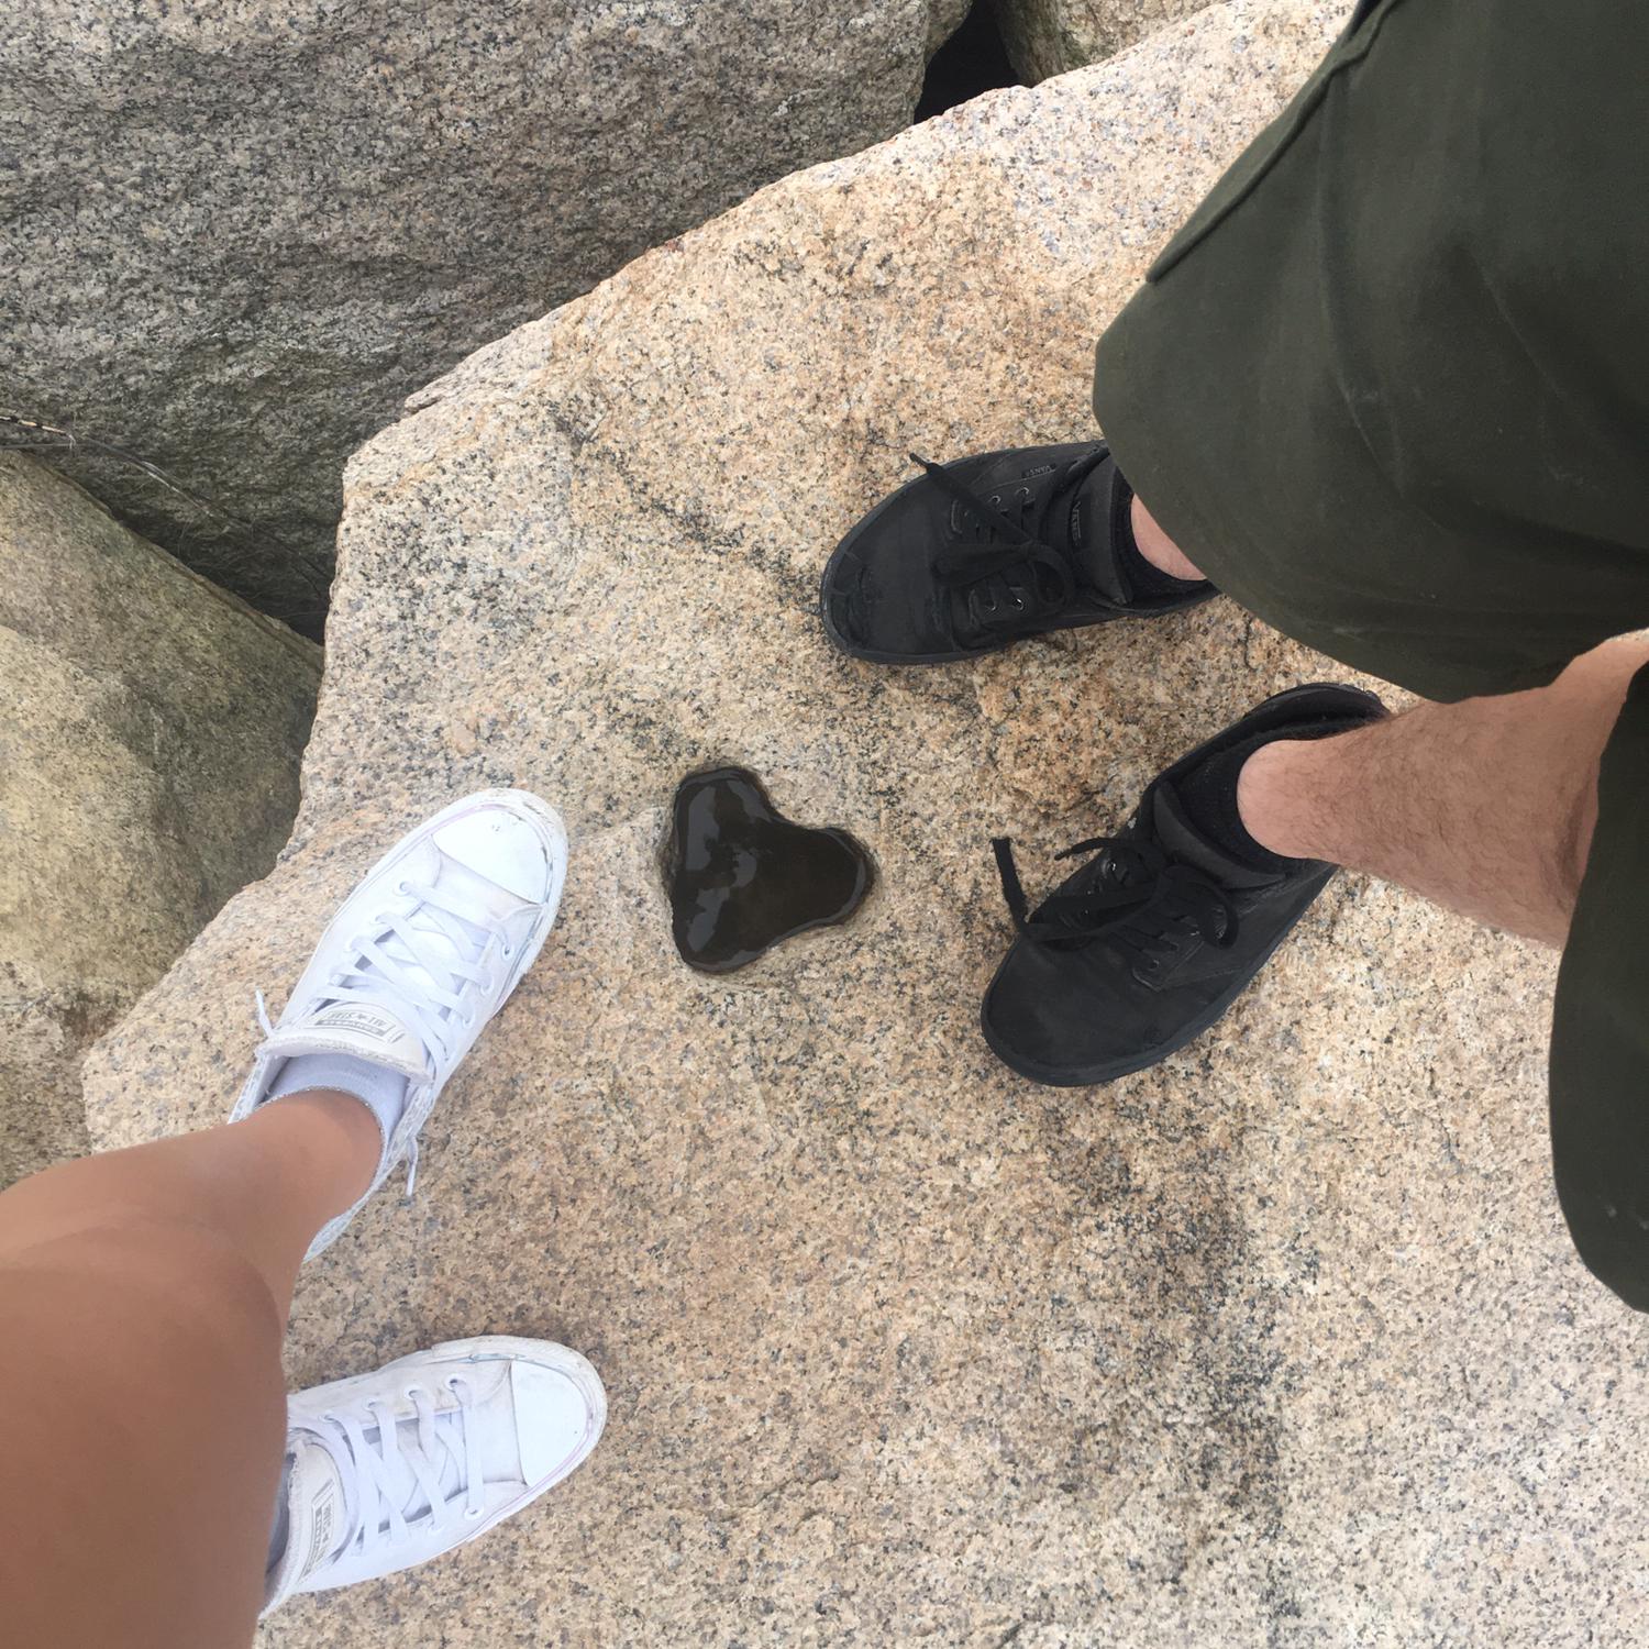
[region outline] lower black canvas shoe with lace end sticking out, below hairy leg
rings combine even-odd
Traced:
[[[1334,876],[1242,829],[1237,772],[1271,739],[1377,721],[1357,688],[1294,688],[1177,760],[1118,836],[1027,912],[1012,849],[996,843],[1019,938],[984,993],[984,1039],[1032,1082],[1078,1087],[1144,1070],[1212,1026]]]

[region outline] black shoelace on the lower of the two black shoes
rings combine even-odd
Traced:
[[[1192,938],[1222,950],[1237,940],[1237,910],[1224,889],[1194,866],[1169,859],[1151,841],[1093,836],[1055,854],[1073,859],[1098,853],[1100,859],[1080,886],[1052,894],[1034,912],[1019,881],[1012,843],[998,836],[991,851],[1014,927],[1032,943],[1080,945],[1103,935],[1154,971]],[[1131,914],[1118,922],[1120,910]]]

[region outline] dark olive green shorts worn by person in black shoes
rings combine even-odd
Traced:
[[[1123,473],[1220,589],[1435,699],[1649,627],[1649,8],[1375,0],[1100,340]],[[1649,1309],[1649,673],[1603,760],[1552,1141]]]

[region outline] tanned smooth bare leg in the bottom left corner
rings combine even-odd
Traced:
[[[292,1283],[381,1146],[359,1100],[300,1095],[0,1196],[10,1649],[251,1642]]]

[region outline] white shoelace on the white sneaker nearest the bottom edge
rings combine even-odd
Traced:
[[[412,1403],[412,1438],[402,1438],[388,1403],[369,1402],[366,1413],[376,1420],[378,1436],[368,1438],[356,1415],[327,1413],[317,1423],[317,1435],[331,1453],[343,1478],[345,1504],[353,1509],[353,1527],[343,1550],[361,1553],[404,1540],[409,1529],[432,1522],[445,1527],[453,1517],[475,1520],[485,1510],[485,1478],[482,1474],[480,1428],[470,1413],[473,1392],[460,1379],[442,1382],[457,1400],[457,1408],[440,1415],[447,1428],[435,1425],[434,1393],[420,1385],[407,1387]],[[457,1428],[460,1446],[452,1443]],[[442,1469],[455,1473],[452,1494],[442,1489]],[[401,1471],[397,1468],[406,1468]],[[406,1489],[406,1473],[414,1487]],[[458,1499],[462,1494],[462,1510]],[[414,1510],[422,1502],[422,1510]]]

